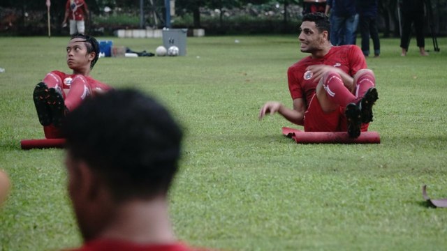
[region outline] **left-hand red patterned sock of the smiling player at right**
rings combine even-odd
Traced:
[[[325,75],[323,77],[323,87],[329,100],[342,107],[346,107],[350,102],[356,100],[356,96],[344,86],[342,77],[337,73]]]

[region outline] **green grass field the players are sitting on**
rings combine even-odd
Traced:
[[[106,39],[135,51],[162,43]],[[305,56],[297,36],[188,38],[187,56],[104,58],[92,76],[152,93],[184,126],[170,192],[183,241],[223,250],[441,250],[447,211],[427,207],[421,186],[447,197],[447,38],[427,57],[414,38],[401,57],[399,42],[382,39],[381,57],[367,59],[379,90],[369,130],[381,144],[373,145],[294,144],[281,135],[293,126],[281,116],[258,121],[265,101],[291,107],[286,70]],[[0,250],[82,242],[63,151],[20,150],[21,139],[43,138],[32,91],[50,70],[68,70],[67,43],[0,38],[0,168],[13,183],[0,212]]]

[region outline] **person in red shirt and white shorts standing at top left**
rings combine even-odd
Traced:
[[[85,33],[85,20],[89,17],[89,9],[84,0],[67,0],[65,6],[65,16],[62,26],[67,25],[70,20],[70,35],[75,33]]]

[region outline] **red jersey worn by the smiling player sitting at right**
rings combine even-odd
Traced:
[[[367,68],[365,56],[356,45],[333,46],[328,54],[321,58],[313,59],[311,56],[307,56],[293,64],[287,71],[288,89],[291,92],[292,99],[303,98],[307,106],[316,93],[318,82],[311,79],[312,73],[307,72],[306,68],[317,64],[340,68],[351,77],[358,70]]]

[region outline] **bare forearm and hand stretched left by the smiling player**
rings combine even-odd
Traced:
[[[284,116],[285,119],[291,121],[292,123],[297,124],[298,126],[304,125],[304,117],[305,117],[305,103],[302,98],[295,98],[293,100],[293,109],[289,109],[281,104],[281,102],[270,101],[266,102],[261,110],[259,111],[259,119],[263,119],[266,114],[276,114],[279,113],[281,116]]]

